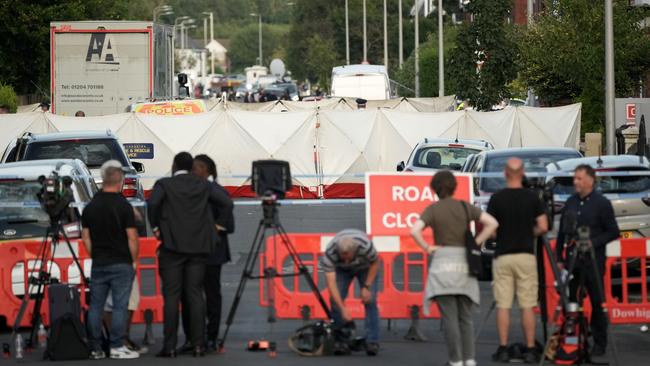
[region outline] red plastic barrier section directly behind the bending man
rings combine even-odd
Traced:
[[[329,304],[329,293],[325,288],[324,275],[319,278],[319,259],[322,249],[334,234],[289,234],[289,238],[299,253],[303,263],[311,268],[314,281],[321,289],[321,294]],[[282,244],[280,236],[267,239],[266,252],[261,254],[260,270],[273,268],[277,273],[297,272],[295,263]],[[379,292],[377,304],[379,314],[384,319],[411,319],[412,307],[417,306],[420,318],[439,318],[440,313],[435,304],[430,307],[430,314],[425,316],[423,307],[423,288],[426,284],[428,273],[427,256],[410,237],[375,237],[375,246],[380,252],[381,267],[379,270]],[[403,267],[404,276],[396,278],[399,271],[397,266]],[[275,315],[281,319],[302,319],[304,309],[309,309],[310,318],[323,319],[325,314],[310,291],[302,277],[276,277],[273,281],[262,281],[260,286],[260,305],[273,306]],[[272,286],[268,301],[267,288]],[[419,284],[417,290],[414,285]],[[355,289],[358,285],[355,285]],[[350,293],[346,300],[350,307],[351,316],[362,319],[364,308],[358,297],[358,291]]]

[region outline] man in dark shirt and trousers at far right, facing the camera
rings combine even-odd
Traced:
[[[603,288],[603,275],[605,273],[605,249],[607,243],[619,237],[619,229],[611,202],[602,194],[594,191],[595,182],[596,172],[591,166],[579,165],[575,168],[573,185],[576,193],[566,201],[562,211],[556,254],[558,267],[562,270],[571,261],[571,248],[574,245],[572,239],[576,239],[576,234],[572,234],[572,237],[567,238],[566,233],[573,232],[580,227],[589,228],[590,245],[594,248],[596,254],[599,277],[596,278],[591,262],[586,260],[577,261],[573,273],[570,274],[572,278],[569,284],[569,297],[570,301],[575,302],[577,300],[577,286],[580,283],[584,284],[592,306],[589,324],[591,325],[594,346],[591,355],[598,357],[604,356],[607,348],[607,316],[602,307],[604,294],[600,293],[600,289]],[[565,248],[567,249],[566,255],[564,255]],[[598,283],[600,283],[600,286]]]

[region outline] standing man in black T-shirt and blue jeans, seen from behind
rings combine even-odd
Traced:
[[[93,264],[90,273],[90,358],[106,355],[101,347],[104,304],[109,291],[113,297],[110,327],[110,354],[113,359],[132,359],[140,355],[124,346],[128,321],[128,303],[135,276],[134,259],[138,256],[138,230],[135,214],[122,196],[122,164],[109,160],[101,167],[103,187],[83,212],[82,238]]]

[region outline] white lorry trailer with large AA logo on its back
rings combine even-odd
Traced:
[[[136,102],[170,99],[174,33],[139,21],[50,23],[52,113],[122,113]]]

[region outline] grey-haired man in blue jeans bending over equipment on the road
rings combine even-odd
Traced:
[[[379,310],[377,309],[377,272],[379,256],[364,232],[347,229],[329,242],[322,259],[327,289],[330,292],[332,316],[337,324],[352,321],[345,298],[356,278],[361,288],[361,301],[366,311],[366,353],[379,352]]]

